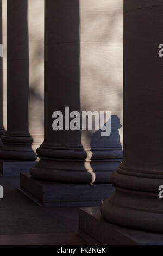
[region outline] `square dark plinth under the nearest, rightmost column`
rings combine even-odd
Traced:
[[[113,225],[104,220],[99,207],[79,209],[79,235],[97,245],[163,245],[163,234]]]

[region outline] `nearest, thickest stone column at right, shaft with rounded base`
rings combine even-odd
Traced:
[[[156,233],[163,233],[162,18],[162,1],[124,1],[123,162],[111,175],[116,191],[101,206],[111,223]]]

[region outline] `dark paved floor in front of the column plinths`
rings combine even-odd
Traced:
[[[18,191],[19,176],[0,185],[0,245],[86,245],[78,232],[77,208],[42,208]]]

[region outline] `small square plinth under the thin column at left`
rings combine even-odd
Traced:
[[[13,161],[1,160],[0,161],[0,174],[5,176],[18,175],[22,170],[29,172],[37,162],[36,161]]]

